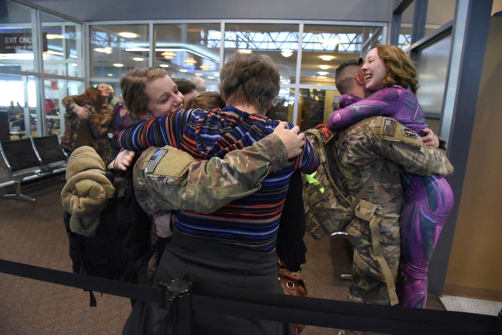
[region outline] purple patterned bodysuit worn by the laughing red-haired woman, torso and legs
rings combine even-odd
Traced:
[[[350,104],[349,106],[347,106]],[[410,88],[385,88],[360,100],[352,95],[340,98],[341,109],[330,115],[328,127],[339,131],[358,120],[375,116],[391,116],[406,127],[396,128],[396,121],[386,119],[382,135],[404,135],[417,139],[417,133],[427,127],[425,115]],[[420,138],[418,138],[420,141]],[[417,141],[418,142],[418,141]],[[443,143],[444,144],[444,143]],[[446,180],[439,176],[421,177],[402,165],[401,185],[403,207],[399,216],[401,227],[400,274],[403,277],[401,304],[405,307],[424,308],[427,302],[427,271],[439,233],[453,207],[453,192]],[[440,162],[438,162],[440,163]],[[411,172],[411,173],[410,173]],[[448,170],[448,173],[452,171]],[[448,174],[446,173],[446,174]]]

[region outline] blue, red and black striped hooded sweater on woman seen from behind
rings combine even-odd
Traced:
[[[223,158],[227,152],[271,134],[279,122],[233,107],[190,110],[129,126],[120,133],[118,142],[129,150],[171,145],[197,160]],[[291,127],[289,124],[288,129]],[[175,230],[216,243],[273,252],[291,175],[296,169],[312,174],[318,165],[317,152],[306,141],[302,154],[286,169],[269,174],[259,191],[211,214],[178,211]]]

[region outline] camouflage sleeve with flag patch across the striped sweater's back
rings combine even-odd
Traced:
[[[173,209],[208,214],[255,193],[269,173],[288,164],[286,147],[276,134],[223,159],[195,161],[170,146],[150,147],[134,167],[135,194],[149,214]]]

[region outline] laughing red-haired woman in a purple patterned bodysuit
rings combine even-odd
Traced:
[[[417,101],[418,80],[413,62],[394,45],[379,45],[366,55],[362,66],[366,99],[353,95],[340,98],[340,110],[328,118],[328,128],[339,131],[362,119],[389,116],[413,131],[405,136],[424,136],[424,112]],[[453,206],[453,192],[441,176],[420,177],[401,173],[404,204],[400,215],[403,277],[401,304],[424,308],[427,302],[427,271],[439,233]]]

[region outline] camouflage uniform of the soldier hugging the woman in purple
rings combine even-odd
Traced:
[[[393,127],[384,129],[386,120]],[[349,299],[388,305],[393,294],[389,288],[394,290],[400,258],[403,190],[399,165],[420,176],[449,175],[453,167],[441,151],[424,146],[414,131],[388,117],[371,117],[353,124],[338,134],[335,147],[352,196],[372,174],[375,176],[346,228],[354,247]],[[380,172],[374,173],[376,169]],[[378,233],[380,238],[375,238]],[[388,265],[387,273],[382,261]]]

